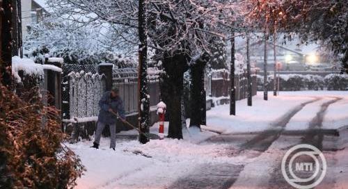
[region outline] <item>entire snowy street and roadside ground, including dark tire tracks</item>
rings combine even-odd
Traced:
[[[259,94],[252,107],[238,101],[237,116],[228,115],[228,105],[208,111],[207,127],[221,135],[191,131],[184,140],[146,145],[119,137],[116,151],[107,149],[108,139],[104,150],[88,141],[69,145],[87,168],[77,188],[292,188],[280,161],[302,143],[321,149],[328,162],[316,188],[348,188],[348,92],[280,95],[263,101]]]

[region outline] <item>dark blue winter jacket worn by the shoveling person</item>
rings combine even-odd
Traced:
[[[100,111],[98,116],[98,122],[103,124],[115,124],[116,115],[109,112],[109,108],[113,110],[114,113],[125,120],[125,108],[123,108],[123,102],[120,97],[111,98],[111,92],[105,92],[99,101]]]

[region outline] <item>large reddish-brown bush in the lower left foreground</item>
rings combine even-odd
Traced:
[[[20,99],[0,83],[0,96],[0,188],[73,188],[84,167],[62,143],[58,110],[35,90]]]

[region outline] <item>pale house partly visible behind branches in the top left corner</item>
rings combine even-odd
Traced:
[[[47,14],[46,0],[21,0],[22,6],[22,36],[25,39],[28,26],[40,22]]]

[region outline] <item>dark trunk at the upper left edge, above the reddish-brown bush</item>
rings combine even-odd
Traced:
[[[3,11],[1,12],[1,82],[10,87],[12,65],[12,6],[11,0],[2,1]]]

